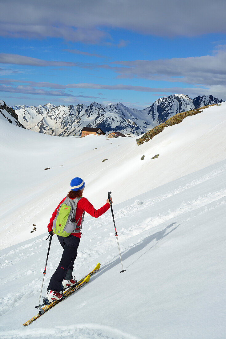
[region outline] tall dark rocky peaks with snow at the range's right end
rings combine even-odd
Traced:
[[[218,98],[209,95],[203,95],[191,99],[185,94],[174,94],[168,97],[157,99],[150,107],[145,108],[143,111],[150,116],[153,124],[165,122],[173,115],[181,112],[190,111],[193,108],[199,108],[206,105],[218,104],[223,102]]]

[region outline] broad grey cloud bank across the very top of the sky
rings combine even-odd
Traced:
[[[156,36],[225,33],[225,0],[7,0],[0,2],[2,36],[61,37],[98,43],[109,28]]]

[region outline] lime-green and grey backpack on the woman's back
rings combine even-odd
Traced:
[[[81,198],[82,197],[70,199],[67,197],[59,206],[57,210],[57,215],[53,221],[53,232],[56,235],[59,235],[61,237],[68,237],[71,233],[81,232],[80,230],[82,228],[85,212],[83,212],[83,215],[81,216],[82,222],[80,226],[78,226],[77,224],[81,217],[77,222],[75,221],[77,203]],[[76,230],[76,228],[78,227],[79,230]]]

